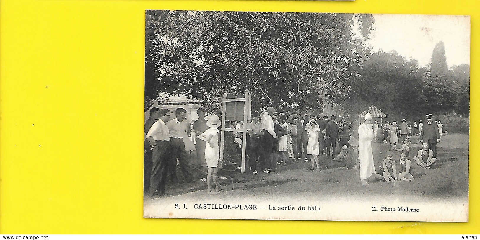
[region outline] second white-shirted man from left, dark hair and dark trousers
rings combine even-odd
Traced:
[[[184,181],[192,181],[192,173],[189,170],[187,162],[187,153],[185,152],[185,144],[183,142],[184,137],[188,137],[190,124],[187,119],[187,110],[183,108],[177,108],[175,110],[175,118],[167,122],[168,131],[170,132],[170,144],[171,144],[171,157],[176,162],[179,160],[180,170],[183,174]],[[173,174],[174,181],[178,181],[176,175],[176,166],[170,168]]]

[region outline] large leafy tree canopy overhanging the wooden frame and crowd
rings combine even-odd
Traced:
[[[212,108],[250,90],[254,110],[348,96],[367,56],[368,14],[148,11],[145,103],[185,94]],[[360,36],[352,37],[353,25]]]

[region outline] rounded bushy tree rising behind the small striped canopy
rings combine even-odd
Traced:
[[[359,81],[352,84],[345,105],[352,114],[375,105],[390,120],[416,118],[421,110],[422,75],[416,60],[406,60],[395,51],[373,53],[364,62]]]

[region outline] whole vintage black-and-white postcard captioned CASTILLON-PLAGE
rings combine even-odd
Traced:
[[[144,217],[468,222],[470,16],[147,10]]]

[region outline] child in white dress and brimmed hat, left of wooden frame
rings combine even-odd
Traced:
[[[207,192],[208,194],[214,194],[221,191],[220,183],[218,183],[217,173],[218,173],[218,159],[220,158],[220,153],[218,149],[218,127],[220,127],[221,122],[218,120],[218,116],[210,115],[207,120],[207,127],[209,129],[204,133],[198,136],[199,139],[204,140],[207,144],[205,146],[205,160],[208,166],[207,173]],[[215,184],[215,191],[212,191],[211,185]]]

